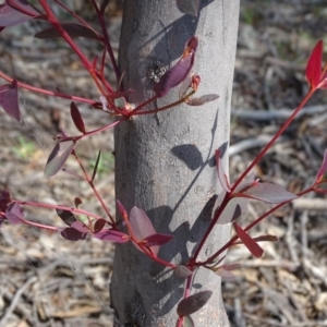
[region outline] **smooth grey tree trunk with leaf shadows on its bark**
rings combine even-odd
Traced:
[[[239,0],[203,0],[198,17],[183,14],[175,1],[125,0],[119,64],[130,102],[154,95],[149,75],[158,65],[171,66],[186,40],[199,39],[193,71],[202,83],[196,96],[220,98],[202,107],[179,106],[157,114],[138,116],[120,124],[116,137],[116,195],[130,210],[145,210],[158,232],[173,240],[159,256],[186,263],[204,234],[211,215],[217,180],[215,149],[227,149]],[[179,87],[147,107],[178,99]],[[227,166],[228,156],[223,160]],[[217,226],[201,258],[230,239],[230,226]],[[132,244],[117,246],[110,286],[116,326],[174,326],[184,280],[154,263]],[[220,292],[220,278],[207,269],[195,275],[192,293],[213,290],[208,303],[192,315],[195,325],[229,326]]]

